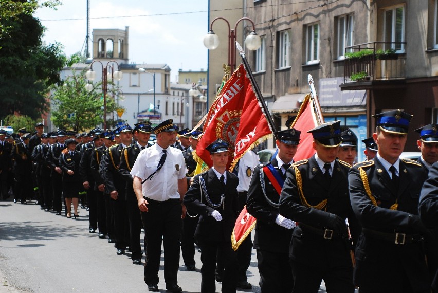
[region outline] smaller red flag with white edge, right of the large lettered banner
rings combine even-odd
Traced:
[[[299,160],[308,159],[315,154],[315,150],[312,148],[313,137],[311,133],[307,131],[318,126],[316,113],[312,105],[311,96],[307,95],[301,104],[297,117],[290,127],[301,131],[300,144],[298,145],[297,152],[294,156],[294,162]]]

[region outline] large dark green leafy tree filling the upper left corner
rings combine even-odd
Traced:
[[[58,1],[41,5],[54,6]],[[66,58],[59,43],[42,45],[44,27],[32,14],[34,0],[0,4],[0,119],[19,113],[32,119],[48,109],[49,87],[60,82]]]

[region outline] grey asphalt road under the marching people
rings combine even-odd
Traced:
[[[44,212],[33,202],[0,201],[0,292],[8,292],[5,284],[24,292],[147,291],[144,256],[142,265],[133,265],[129,252],[117,255],[113,244],[88,233],[88,212],[79,211],[75,220]],[[200,291],[200,253],[195,260],[197,270],[188,272],[180,257],[178,285],[184,292]],[[260,292],[254,250],[247,276],[252,289],[238,292]],[[160,292],[167,292],[163,258],[159,277]],[[220,283],[216,291],[221,291]]]

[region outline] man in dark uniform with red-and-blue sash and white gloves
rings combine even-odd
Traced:
[[[280,193],[286,171],[300,143],[301,132],[287,129],[275,133],[278,154],[254,169],[246,209],[257,219],[254,249],[262,292],[292,292],[294,278],[289,262],[289,244],[296,223],[279,214]]]

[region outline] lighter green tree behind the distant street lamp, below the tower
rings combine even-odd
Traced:
[[[63,85],[54,86],[54,93],[51,96],[53,108],[51,120],[58,127],[84,131],[92,129],[103,122],[103,95],[102,83],[93,84],[94,88],[88,92],[85,89],[85,70],[69,76]],[[111,85],[111,83],[109,83]],[[115,88],[115,93],[118,91]],[[116,103],[112,98],[110,90],[106,95],[106,113],[116,111]],[[107,119],[107,127],[114,127],[115,121]]]

